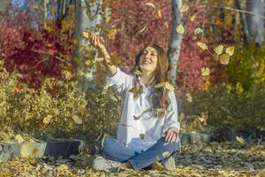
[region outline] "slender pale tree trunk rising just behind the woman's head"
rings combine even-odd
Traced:
[[[171,37],[170,37],[168,58],[172,65],[170,79],[171,81],[176,81],[178,58],[179,58],[181,42],[183,38],[183,35],[177,33],[176,28],[178,27],[178,25],[183,26],[184,24],[183,16],[182,16],[182,13],[180,12],[180,8],[182,6],[182,0],[172,0],[171,6],[172,6],[172,12],[171,12],[172,31],[171,31]]]

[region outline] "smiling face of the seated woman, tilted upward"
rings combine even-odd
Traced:
[[[142,50],[142,53],[140,55],[140,69],[141,71],[145,71],[148,73],[152,73],[155,71],[157,67],[157,52],[152,47],[147,47],[144,50]]]

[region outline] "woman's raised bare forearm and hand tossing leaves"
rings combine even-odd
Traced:
[[[110,65],[110,55],[106,50],[106,47],[102,44],[101,38],[91,33],[89,41],[97,50],[99,50],[100,55],[104,58],[103,64],[106,66],[108,75],[113,76],[117,73],[117,66]]]

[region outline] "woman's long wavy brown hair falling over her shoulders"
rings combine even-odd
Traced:
[[[155,69],[154,73],[155,78],[152,85],[166,81],[170,82],[171,65],[167,58],[166,52],[163,50],[162,47],[154,43],[148,44],[137,54],[137,56],[135,57],[135,65],[133,67],[133,73],[135,73],[135,71],[137,70],[140,71],[140,56],[142,55],[142,51],[147,47],[152,47],[157,52],[157,67]],[[142,89],[140,88],[140,81],[138,77],[134,77],[132,90],[133,90],[133,97],[138,97],[142,91]],[[154,101],[154,108],[162,110],[160,112],[157,112],[159,118],[163,118],[170,104],[168,94],[169,93],[167,89],[155,88],[155,92],[152,95],[152,99]]]

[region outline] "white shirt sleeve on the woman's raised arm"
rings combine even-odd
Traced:
[[[133,78],[117,67],[117,72],[113,76],[107,76],[106,81],[110,84],[110,87],[113,86],[118,94],[124,98],[126,90],[132,84]]]

